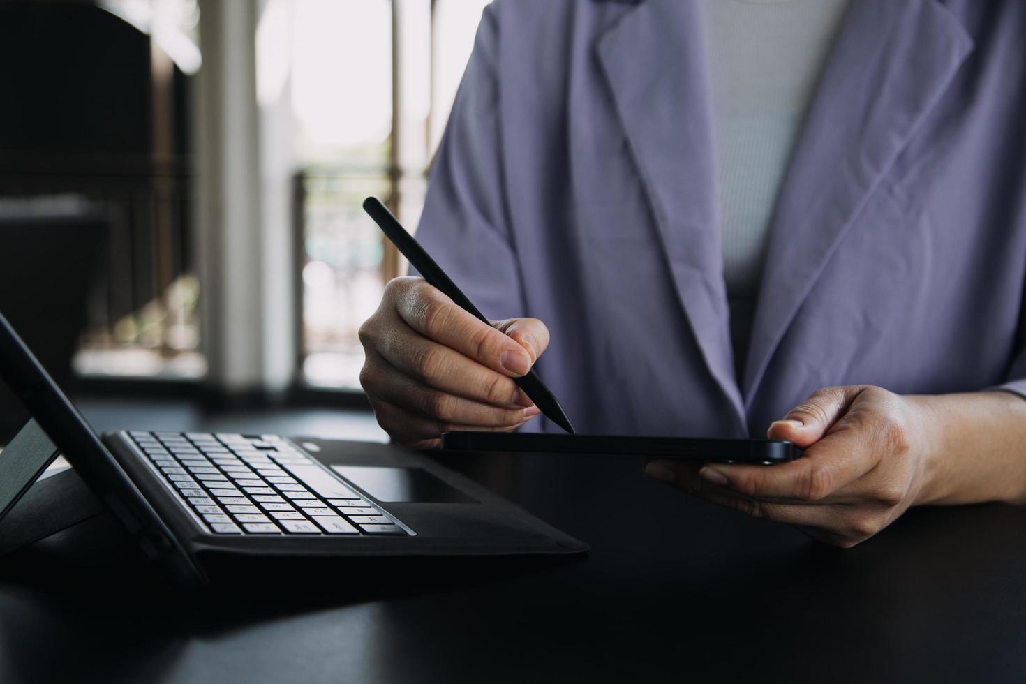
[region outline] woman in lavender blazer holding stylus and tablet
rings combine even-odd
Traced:
[[[550,429],[510,379],[538,361],[581,432],[795,442],[645,474],[831,544],[1026,501],[1024,26],[1016,0],[497,1],[418,234],[497,323],[390,283],[379,421]]]

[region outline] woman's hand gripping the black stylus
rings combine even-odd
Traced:
[[[433,448],[447,430],[511,431],[539,413],[512,379],[549,344],[537,318],[486,325],[423,278],[395,278],[360,341],[360,385],[397,442]]]

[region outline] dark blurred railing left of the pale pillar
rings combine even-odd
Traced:
[[[83,210],[106,218],[76,358],[80,372],[197,377],[205,371],[190,183],[184,159],[4,155],[0,212]]]

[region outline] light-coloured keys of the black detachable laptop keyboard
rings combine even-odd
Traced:
[[[213,534],[407,535],[276,435],[129,432],[154,470]]]

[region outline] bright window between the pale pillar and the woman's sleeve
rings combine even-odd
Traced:
[[[297,0],[293,104],[301,170],[303,377],[357,388],[360,323],[404,271],[360,203],[413,230],[425,173],[485,0]],[[360,65],[347,69],[347,65]]]

